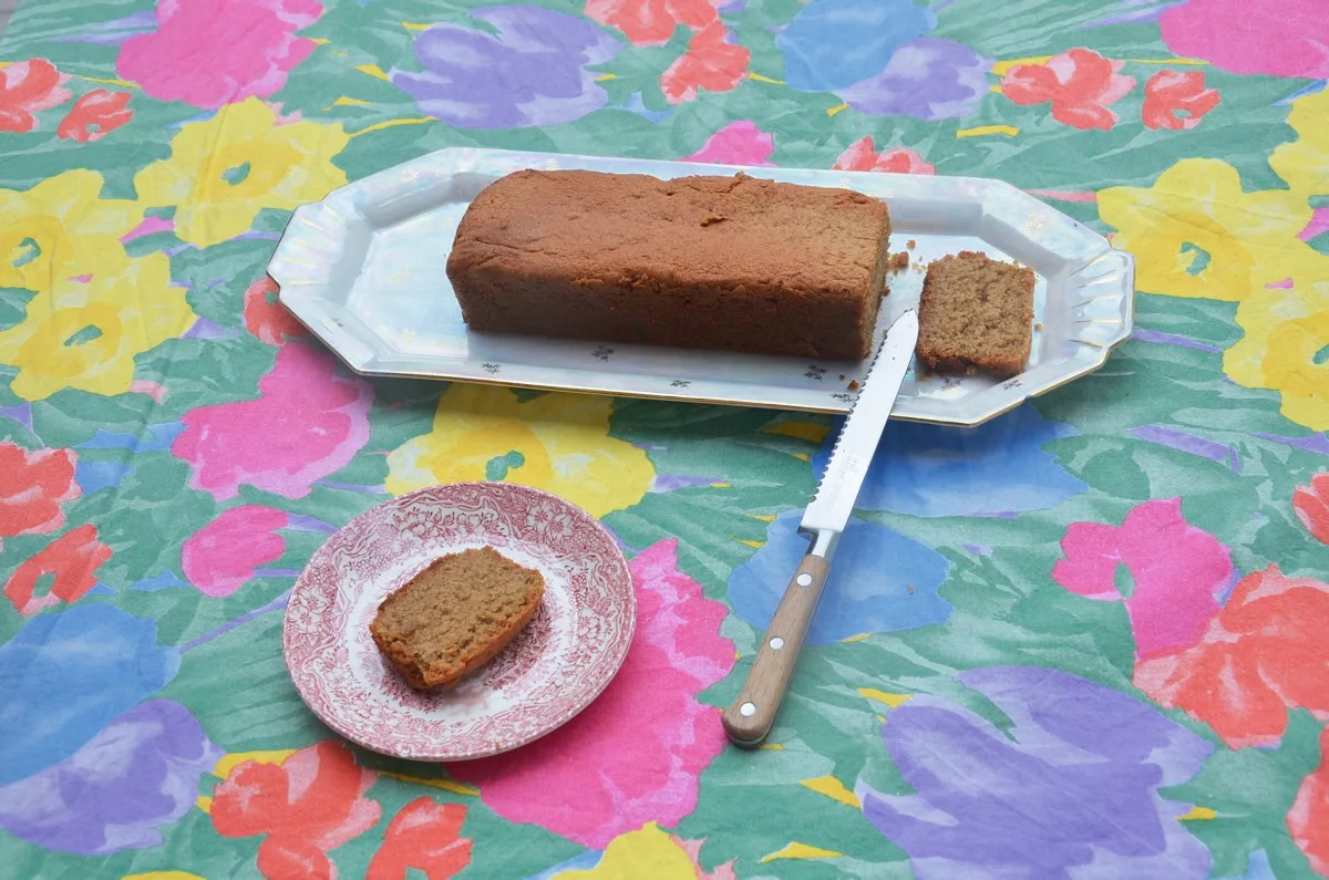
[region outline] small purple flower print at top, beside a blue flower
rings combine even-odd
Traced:
[[[840,100],[873,116],[952,120],[987,94],[991,58],[950,40],[918,37],[896,49],[881,73],[839,89]]]

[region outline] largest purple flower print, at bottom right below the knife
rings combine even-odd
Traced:
[[[920,880],[1209,876],[1209,851],[1160,788],[1195,776],[1213,746],[1154,707],[1049,669],[960,675],[1009,734],[952,702],[916,697],[882,739],[912,795],[860,784],[863,812]]]

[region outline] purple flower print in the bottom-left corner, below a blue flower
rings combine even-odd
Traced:
[[[187,709],[141,703],[58,764],[0,786],[0,828],[82,856],[155,847],[219,756]]]

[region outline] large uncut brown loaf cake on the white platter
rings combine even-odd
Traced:
[[[466,209],[448,278],[480,332],[861,359],[889,237],[843,189],[517,171]]]

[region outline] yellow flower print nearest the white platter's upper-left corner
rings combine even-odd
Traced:
[[[140,171],[134,186],[145,205],[175,206],[182,241],[209,247],[249,231],[264,207],[295,209],[344,185],[332,157],[348,141],[340,125],[278,125],[270,106],[246,98],[181,128],[170,158]]]

